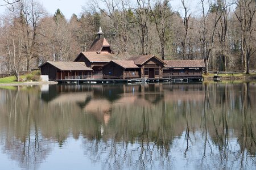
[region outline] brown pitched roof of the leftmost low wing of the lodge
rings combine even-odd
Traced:
[[[81,71],[93,71],[89,67],[86,67],[84,62],[59,62],[59,61],[47,61],[43,63],[43,65],[46,65],[46,63],[49,63],[52,66],[55,66],[57,69],[62,71],[69,71],[69,70],[81,70]],[[43,65],[39,66],[42,67]]]

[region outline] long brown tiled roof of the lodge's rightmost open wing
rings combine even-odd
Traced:
[[[205,67],[204,59],[195,60],[165,60],[167,68],[184,68],[184,67]]]

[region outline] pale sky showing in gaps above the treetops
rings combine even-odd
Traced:
[[[70,19],[72,14],[80,16],[82,12],[82,6],[88,5],[90,0],[38,0],[42,3],[43,7],[48,11],[50,15],[53,15],[57,8],[65,15],[65,18]],[[154,1],[154,0],[153,0]],[[0,0],[0,5],[3,5],[3,0]],[[196,12],[199,12],[201,8],[198,0],[187,0],[187,6],[191,9],[193,15],[197,15]],[[180,0],[172,0],[171,6],[174,11],[180,11],[181,3]],[[5,12],[6,6],[0,6],[0,13]],[[181,12],[182,13],[182,12]]]

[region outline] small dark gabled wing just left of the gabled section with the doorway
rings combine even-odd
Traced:
[[[101,67],[104,79],[141,78],[141,69],[134,61],[113,60]]]

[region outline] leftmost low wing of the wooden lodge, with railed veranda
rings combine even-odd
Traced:
[[[92,75],[92,69],[84,62],[53,62],[47,61],[40,66],[41,74],[48,75],[49,80],[64,80],[86,78]],[[80,77],[79,77],[80,76]]]

